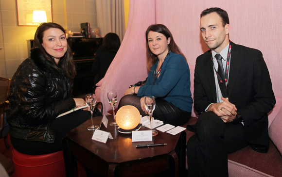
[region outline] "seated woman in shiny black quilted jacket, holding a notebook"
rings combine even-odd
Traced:
[[[65,30],[56,23],[42,23],[35,32],[30,58],[19,65],[9,94],[12,145],[24,154],[39,155],[62,150],[68,131],[90,118],[88,111],[76,111],[85,104],[72,98],[76,74]]]

